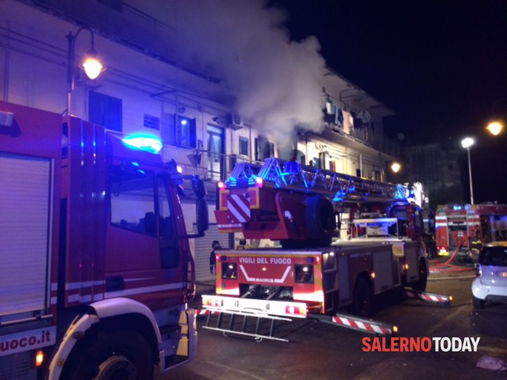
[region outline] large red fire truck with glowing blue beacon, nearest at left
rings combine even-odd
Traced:
[[[152,142],[0,102],[3,379],[149,379],[193,359],[188,238],[207,229],[205,191]],[[187,179],[194,236],[178,197]]]

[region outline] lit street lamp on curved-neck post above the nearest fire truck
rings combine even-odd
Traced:
[[[82,68],[85,70],[86,75],[90,79],[97,78],[102,71],[105,70],[102,63],[97,59],[97,52],[94,49],[94,39],[93,39],[93,31],[88,26],[83,26],[80,28],[76,34],[72,34],[72,32],[68,32],[66,35],[68,41],[68,56],[67,56],[67,115],[71,115],[70,113],[70,104],[72,99],[72,92],[75,89],[75,78],[74,78],[74,49],[76,47],[76,39],[78,38],[79,33],[82,30],[88,30],[91,35],[91,47],[88,50],[85,60],[81,64]]]

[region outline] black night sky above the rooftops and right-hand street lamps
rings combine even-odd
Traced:
[[[292,1],[294,40],[315,35],[322,56],[345,78],[396,112],[385,132],[404,144],[442,142],[471,150],[476,203],[507,203],[507,1]],[[463,181],[467,185],[463,149]],[[465,195],[467,196],[468,188]]]

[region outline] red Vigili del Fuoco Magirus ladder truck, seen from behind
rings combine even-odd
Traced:
[[[283,248],[218,252],[216,295],[203,296],[203,307],[233,317],[227,330],[219,326],[220,317],[218,326],[207,328],[231,332],[235,315],[246,320],[253,313],[274,323],[347,306],[366,317],[375,295],[404,287],[425,290],[422,212],[407,200],[405,186],[271,158],[262,167],[238,164],[219,188],[220,229],[279,239]],[[345,223],[348,238],[330,246]],[[344,319],[345,325],[372,326]],[[240,333],[273,338],[259,333],[259,323],[255,332],[246,332],[246,324]]]

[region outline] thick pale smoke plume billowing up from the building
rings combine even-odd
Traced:
[[[275,138],[287,155],[295,128],[322,126],[325,62],[316,37],[289,40],[280,9],[261,0],[157,2],[174,26],[184,64],[225,79],[235,111]]]

